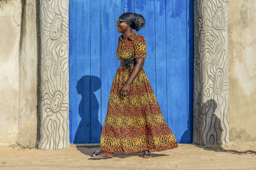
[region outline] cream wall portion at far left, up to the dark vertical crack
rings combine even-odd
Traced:
[[[0,8],[0,144],[14,143],[19,133],[19,46],[21,3]]]

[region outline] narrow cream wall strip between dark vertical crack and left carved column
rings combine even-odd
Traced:
[[[22,146],[34,147],[36,143],[36,1],[23,0],[22,27],[20,31],[20,106],[19,138]]]

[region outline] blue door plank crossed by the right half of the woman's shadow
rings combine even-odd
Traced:
[[[90,143],[100,143],[100,0],[90,1]]]

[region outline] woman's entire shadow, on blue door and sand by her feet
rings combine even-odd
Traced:
[[[74,138],[74,143],[100,143],[100,131],[102,126],[99,118],[99,102],[95,96],[95,92],[100,89],[100,78],[97,76],[83,76],[77,81],[77,94],[81,94],[82,99],[79,103],[79,115],[81,122],[79,123]],[[95,150],[100,148],[77,146],[84,155],[92,155]],[[131,156],[141,156],[141,153],[125,154],[122,152],[115,153],[115,157],[126,158]],[[153,157],[168,156],[161,153],[152,153]]]

